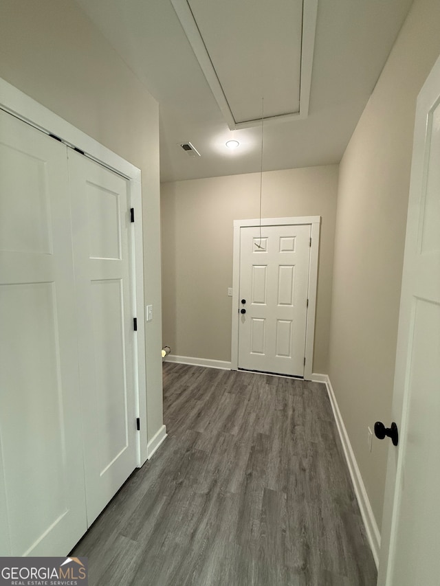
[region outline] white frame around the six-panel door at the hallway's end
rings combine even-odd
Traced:
[[[305,334],[304,379],[311,381],[314,359],[316,291],[318,286],[318,252],[321,216],[299,216],[295,218],[263,218],[261,220],[234,220],[234,252],[232,265],[232,343],[231,370],[239,368],[239,287],[240,287],[240,230],[243,227],[305,225],[311,227],[309,260],[309,308]],[[236,311],[237,310],[237,311]]]

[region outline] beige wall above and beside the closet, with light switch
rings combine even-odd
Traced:
[[[142,170],[149,439],[162,426],[158,105],[74,1],[0,11],[0,77]]]

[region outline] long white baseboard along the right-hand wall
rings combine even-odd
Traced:
[[[380,531],[377,527],[377,522],[373,513],[373,509],[371,508],[370,500],[366,493],[366,488],[364,485],[364,481],[362,480],[362,476],[360,474],[358,462],[356,462],[355,454],[353,452],[353,448],[351,447],[347,429],[344,425],[344,421],[342,420],[342,415],[338,407],[338,402],[336,401],[336,396],[333,391],[333,387],[331,386],[331,382],[327,374],[312,376],[325,376],[326,380],[322,382],[325,382],[327,386],[327,392],[329,394],[331,408],[333,409],[333,415],[335,416],[336,426],[338,427],[339,435],[342,442],[342,448],[344,449],[345,459],[347,460],[347,466],[349,467],[351,481],[353,482],[353,488],[355,489],[355,495],[358,499],[360,512],[366,529],[366,535],[369,539],[376,567],[378,567],[380,552]]]

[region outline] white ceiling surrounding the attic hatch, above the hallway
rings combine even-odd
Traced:
[[[260,170],[261,122],[230,130],[171,0],[76,1],[159,102],[162,181]],[[265,117],[298,112],[300,49],[310,38],[300,22],[313,0],[173,2],[192,13],[235,122],[261,117],[262,97]],[[264,170],[340,161],[411,3],[318,0],[308,115],[265,122]],[[231,138],[241,143],[234,151],[225,147]],[[201,157],[188,157],[184,142]]]

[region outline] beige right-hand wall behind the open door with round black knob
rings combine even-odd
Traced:
[[[440,2],[416,0],[340,164],[329,376],[381,526],[417,94],[440,53]]]

